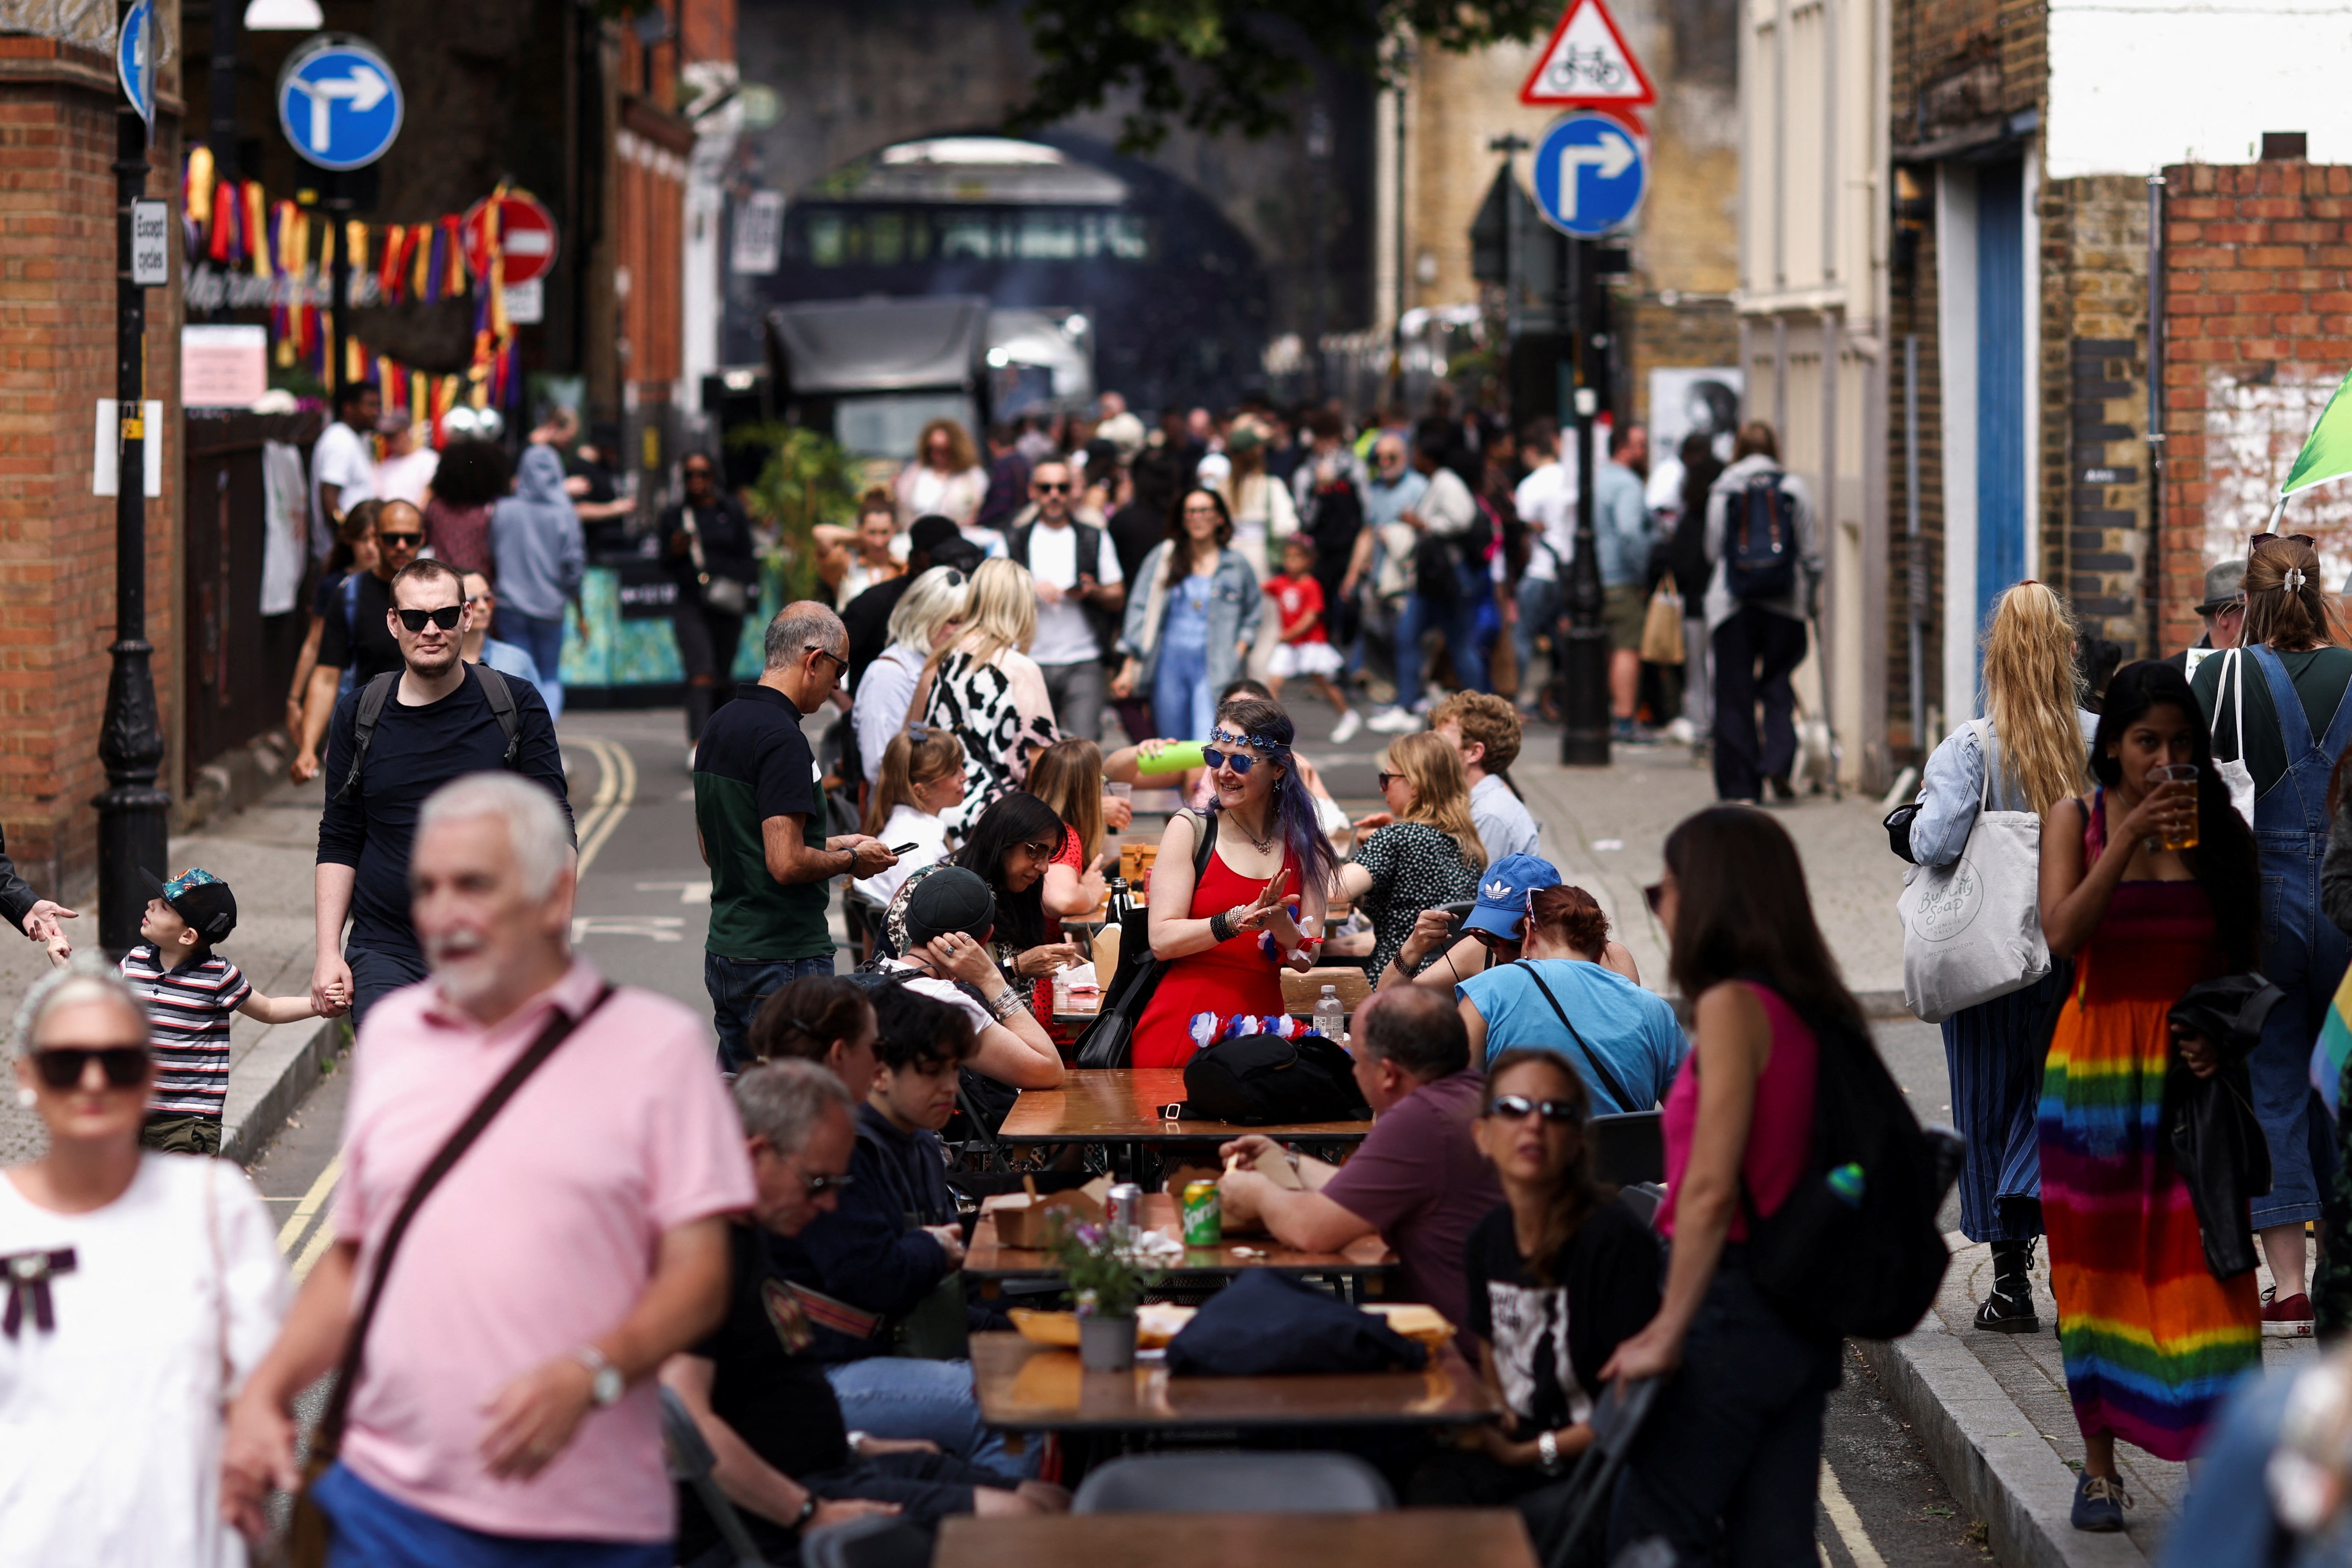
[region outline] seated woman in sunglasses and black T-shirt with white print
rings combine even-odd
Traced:
[[[1602,1363],[1658,1312],[1658,1239],[1592,1180],[1590,1114],[1559,1056],[1494,1058],[1470,1135],[1503,1204],[1463,1246],[1463,1328],[1508,1415],[1439,1450],[1411,1488],[1414,1507],[1519,1505],[1543,1561],[1573,1502],[1564,1472],[1592,1443]]]

